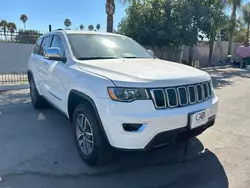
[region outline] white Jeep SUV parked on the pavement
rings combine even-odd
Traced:
[[[28,78],[34,108],[46,100],[65,114],[92,165],[110,159],[112,148],[148,150],[195,137],[214,124],[218,108],[208,73],[157,59],[117,34],[43,35]]]

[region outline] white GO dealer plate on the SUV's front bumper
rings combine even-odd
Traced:
[[[189,120],[191,129],[205,125],[208,122],[207,110],[201,110],[190,114]]]

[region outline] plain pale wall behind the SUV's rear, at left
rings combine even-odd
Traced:
[[[0,42],[0,72],[27,70],[33,44]]]

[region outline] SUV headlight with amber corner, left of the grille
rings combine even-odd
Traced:
[[[132,102],[134,100],[149,99],[146,89],[136,88],[108,88],[108,93],[111,99],[122,102]]]

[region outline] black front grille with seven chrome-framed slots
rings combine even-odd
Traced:
[[[182,107],[203,102],[212,96],[210,82],[170,88],[150,89],[154,105],[158,109]]]

